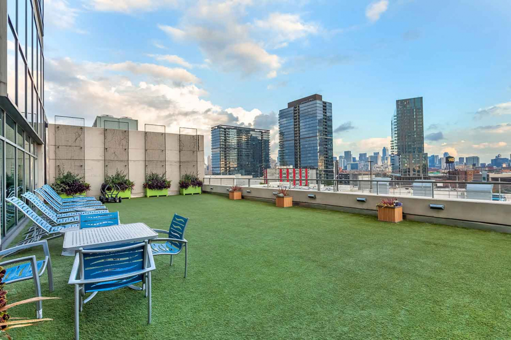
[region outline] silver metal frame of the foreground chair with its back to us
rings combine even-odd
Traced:
[[[137,270],[132,273],[122,274],[122,275],[113,275],[113,276],[107,276],[102,278],[95,278],[95,279],[82,279],[82,277],[85,276],[84,272],[84,260],[83,260],[83,254],[102,254],[102,253],[109,253],[109,252],[117,252],[117,251],[124,251],[129,250],[133,248],[139,248],[141,246],[144,246],[144,269],[143,270]],[[92,299],[97,292],[93,292],[88,298],[85,300],[83,297],[85,296],[85,284],[88,283],[101,283],[101,282],[108,282],[113,280],[121,280],[130,278],[137,275],[144,275],[144,287],[146,290],[146,297],[147,300],[147,310],[148,310],[148,318],[147,323],[151,323],[151,271],[155,270],[156,266],[154,264],[154,258],[152,251],[149,247],[149,242],[145,241],[143,243],[137,243],[132,244],[126,247],[121,248],[112,248],[112,249],[101,249],[101,250],[91,250],[87,249],[84,250],[83,248],[80,248],[77,253],[75,254],[75,261],[73,263],[73,268],[71,269],[71,275],[69,276],[68,284],[74,284],[75,285],[75,340],[79,340],[80,337],[80,311],[83,309],[83,305]],[[124,287],[120,287],[117,289],[121,289]],[[117,290],[112,289],[112,290]]]

